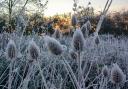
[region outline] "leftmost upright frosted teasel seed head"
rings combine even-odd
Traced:
[[[9,60],[14,60],[17,57],[17,48],[13,40],[10,40],[7,44],[6,56]]]

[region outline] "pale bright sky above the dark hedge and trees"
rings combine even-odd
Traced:
[[[80,5],[87,6],[90,1],[95,12],[101,11],[107,0],[78,0]],[[49,0],[45,16],[53,16],[55,14],[63,14],[72,12],[73,0]],[[119,11],[122,9],[128,10],[128,0],[113,0],[109,11]]]

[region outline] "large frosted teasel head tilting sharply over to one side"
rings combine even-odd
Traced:
[[[48,50],[54,55],[60,55],[63,52],[62,45],[54,38],[45,37]]]

